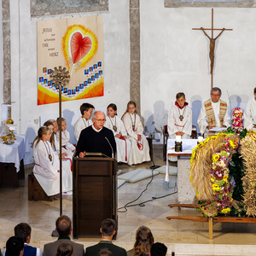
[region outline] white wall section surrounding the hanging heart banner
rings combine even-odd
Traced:
[[[58,113],[58,104],[37,104],[37,21],[30,19],[29,0],[10,0],[12,117],[28,142],[36,136],[41,115]],[[20,17],[20,19],[19,19]],[[114,102],[121,115],[130,99],[129,80],[129,1],[109,0],[109,12],[103,14],[104,96],[63,102],[62,110],[75,111],[83,102],[96,108]],[[31,162],[32,157],[26,159]]]

